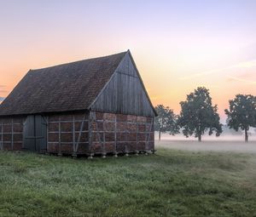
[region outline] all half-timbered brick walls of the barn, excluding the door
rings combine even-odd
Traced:
[[[98,111],[44,116],[47,152],[108,154],[154,151],[154,117]],[[0,150],[22,150],[26,117],[0,119]]]

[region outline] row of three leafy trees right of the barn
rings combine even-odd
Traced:
[[[234,100],[230,100],[229,109],[225,109],[227,125],[236,131],[245,132],[245,141],[248,141],[249,128],[256,127],[256,96],[251,94],[237,94]],[[219,122],[218,106],[212,105],[209,90],[200,87],[187,95],[185,101],[180,102],[181,111],[176,115],[168,106],[158,105],[155,111],[154,127],[159,132],[159,140],[162,133],[178,134],[180,131],[189,137],[194,134],[201,141],[203,134],[215,133],[219,136],[223,132],[223,124]]]

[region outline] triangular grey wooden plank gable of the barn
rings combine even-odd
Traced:
[[[91,109],[154,117],[154,109],[129,53],[125,54],[125,58],[119,64],[106,88],[96,98]]]

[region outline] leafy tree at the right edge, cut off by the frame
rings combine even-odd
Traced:
[[[225,109],[225,113],[228,126],[236,131],[239,128],[244,130],[247,142],[249,128],[256,127],[256,96],[237,94],[234,100],[230,100],[230,110]]]

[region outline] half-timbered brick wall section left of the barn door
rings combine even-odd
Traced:
[[[22,150],[23,117],[0,118],[0,150]]]

